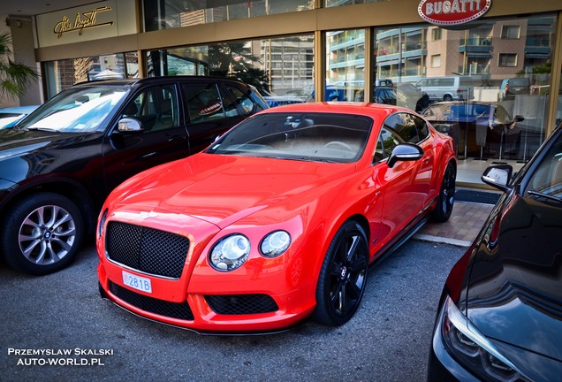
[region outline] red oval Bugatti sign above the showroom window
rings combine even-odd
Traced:
[[[491,0],[421,0],[421,19],[441,27],[465,24],[482,17]]]

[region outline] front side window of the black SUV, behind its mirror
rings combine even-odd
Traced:
[[[176,88],[163,85],[142,89],[125,106],[123,117],[139,120],[146,132],[179,126]]]

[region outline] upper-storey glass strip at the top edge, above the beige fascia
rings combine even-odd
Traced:
[[[189,27],[231,19],[248,19],[276,13],[313,9],[309,0],[145,0],[144,31]]]

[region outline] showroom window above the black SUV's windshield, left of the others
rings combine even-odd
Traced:
[[[47,97],[60,93],[75,83],[88,80],[137,78],[137,52],[116,53],[107,56],[68,58],[45,63]]]

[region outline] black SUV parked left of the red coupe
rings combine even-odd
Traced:
[[[72,261],[105,197],[137,172],[206,148],[267,108],[253,88],[213,77],[87,82],[0,131],[0,251],[19,271]]]

